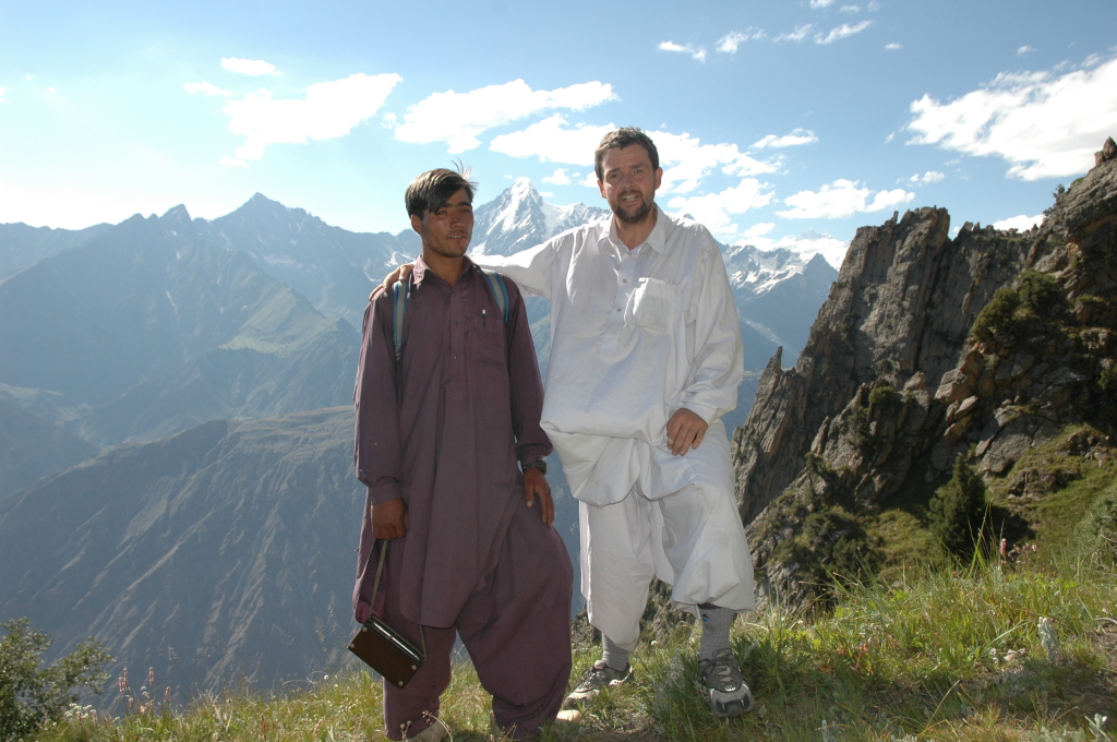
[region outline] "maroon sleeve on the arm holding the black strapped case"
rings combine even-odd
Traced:
[[[353,402],[356,429],[353,462],[356,477],[378,504],[401,495],[403,457],[392,346],[392,293],[381,291],[364,311],[361,362]]]

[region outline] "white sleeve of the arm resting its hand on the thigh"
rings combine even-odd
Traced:
[[[708,232],[695,282],[687,317],[694,320],[695,358],[681,407],[713,422],[737,406],[745,356],[725,263]]]

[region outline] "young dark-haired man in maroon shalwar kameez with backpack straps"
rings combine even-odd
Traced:
[[[506,323],[465,257],[472,194],[449,170],[408,188],[422,257],[404,287],[399,368],[392,292],[379,291],[364,316],[355,463],[369,494],[354,611],[363,622],[375,610],[427,653],[403,688],[384,686],[393,740],[448,735],[437,716],[455,632],[513,738],[554,720],[570,677],[573,575],[551,527],[543,386],[519,289],[506,282]],[[389,548],[374,597],[375,540]]]

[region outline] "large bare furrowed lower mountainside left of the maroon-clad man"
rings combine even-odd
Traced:
[[[214,420],[0,502],[0,616],[30,617],[51,656],[95,636],[114,678],[154,667],[180,701],[335,669],[364,503],[352,431],[350,407]]]

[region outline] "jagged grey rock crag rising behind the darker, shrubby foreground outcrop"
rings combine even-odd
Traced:
[[[971,225],[951,240],[948,230],[946,210],[927,208],[858,230],[795,369],[781,370],[779,356],[768,363],[734,435],[746,524],[799,475],[812,443],[828,435],[823,424],[862,386],[881,380],[901,389],[918,371],[930,389],[960,381],[952,394],[970,396],[968,379],[946,374],[977,312],[1020,270],[1029,242]]]

